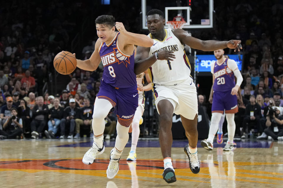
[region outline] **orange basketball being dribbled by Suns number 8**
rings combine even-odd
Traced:
[[[77,67],[77,59],[73,53],[61,51],[55,56],[53,66],[60,74],[70,74]]]

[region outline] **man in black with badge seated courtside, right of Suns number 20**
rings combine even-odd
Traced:
[[[246,106],[245,117],[243,120],[243,134],[241,138],[246,137],[245,132],[249,132],[251,124],[254,124],[254,129],[260,129],[260,118],[261,118],[261,107],[256,103],[256,98],[254,95],[250,96],[250,103]],[[263,132],[263,130],[260,133]]]

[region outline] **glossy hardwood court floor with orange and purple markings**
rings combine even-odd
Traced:
[[[199,141],[200,142],[200,141]],[[95,163],[85,165],[82,157],[92,142],[81,140],[1,140],[0,187],[283,187],[283,142],[238,141],[233,152],[214,143],[213,151],[198,145],[200,173],[193,174],[183,147],[174,140],[172,160],[177,182],[162,179],[163,160],[158,140],[139,140],[137,161],[127,162],[126,145],[116,177],[106,169],[114,141]]]

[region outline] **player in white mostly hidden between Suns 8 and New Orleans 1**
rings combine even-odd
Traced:
[[[136,56],[136,47],[135,46],[135,56]],[[144,86],[144,75],[147,79],[147,85]],[[132,144],[131,150],[129,152],[129,156],[127,157],[127,161],[135,161],[136,160],[136,145],[139,140],[139,122],[141,120],[141,116],[144,113],[144,91],[152,90],[152,82],[149,78],[147,70],[139,75],[136,75],[136,83],[138,85],[139,90],[139,106],[136,108],[136,112],[134,115],[133,122],[131,124],[129,132],[132,132]],[[131,130],[132,129],[132,130]]]

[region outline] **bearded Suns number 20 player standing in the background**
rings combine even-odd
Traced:
[[[234,121],[235,113],[238,112],[237,93],[243,81],[237,63],[228,58],[224,58],[224,50],[214,51],[217,59],[215,63],[211,63],[211,73],[213,76],[213,100],[212,100],[212,116],[209,127],[208,139],[202,140],[201,145],[207,150],[213,150],[213,139],[217,132],[221,116],[225,110],[228,130],[228,141],[223,148],[224,151],[232,151],[234,149],[233,139],[236,130]],[[235,76],[237,83],[235,84]],[[211,95],[211,93],[210,93]]]

